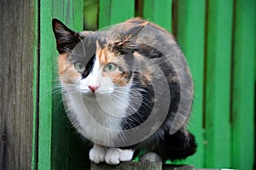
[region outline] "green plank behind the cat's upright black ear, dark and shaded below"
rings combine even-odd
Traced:
[[[74,31],[83,29],[83,0],[54,2],[59,10],[54,11],[54,16],[62,20]],[[55,49],[56,51],[56,49]],[[54,58],[55,60],[57,58]],[[57,80],[56,69],[53,71],[54,80]],[[59,82],[53,83],[55,86]],[[56,92],[53,96],[53,116],[52,116],[52,169],[82,169],[88,168],[88,148],[83,144],[82,139],[70,125],[66,112],[61,103],[61,95]],[[64,148],[64,150],[63,150]],[[86,163],[88,164],[86,167]]]

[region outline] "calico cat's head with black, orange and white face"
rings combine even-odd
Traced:
[[[75,32],[55,19],[52,24],[60,54],[58,68],[62,87],[92,98],[131,87],[136,51],[130,41],[136,33],[131,35],[131,32],[139,31],[140,26],[128,28],[125,35],[112,37],[111,31]]]

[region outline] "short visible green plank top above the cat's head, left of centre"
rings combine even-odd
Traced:
[[[100,0],[99,2],[100,28],[123,22],[135,14],[134,0]]]

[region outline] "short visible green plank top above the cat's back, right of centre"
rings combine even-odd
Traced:
[[[172,32],[172,0],[144,0],[143,18]]]

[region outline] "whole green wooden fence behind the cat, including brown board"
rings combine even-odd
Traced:
[[[83,15],[87,14],[83,11],[83,3],[83,0],[23,0],[19,3],[13,0],[1,3],[1,32],[3,35],[15,32],[16,36],[1,38],[2,48],[9,51],[0,51],[0,73],[19,73],[27,83],[22,85],[25,82],[19,82],[18,77],[5,77],[6,81],[1,84],[0,169],[90,167],[88,144],[68,122],[61,95],[53,88],[58,84],[58,54],[51,20],[58,18],[73,30],[82,31]],[[195,82],[189,130],[195,134],[199,147],[195,156],[176,163],[195,167],[253,169],[255,0],[98,0],[96,5],[99,28],[141,16],[172,32],[183,49]],[[18,13],[14,7],[23,13]],[[10,9],[14,15],[9,14]],[[15,30],[16,26],[22,27]],[[26,47],[14,41],[26,42]],[[17,58],[17,64],[11,65],[9,59],[17,57],[11,50],[14,45],[15,51],[29,56],[29,59]],[[24,68],[29,66],[29,71],[19,67],[19,62]],[[23,68],[23,71],[16,71],[16,67]],[[31,78],[27,78],[27,74],[31,74]],[[15,87],[21,84],[26,93],[15,93],[8,80],[17,82]],[[21,110],[24,115],[20,115],[19,110],[23,108],[22,104],[10,105],[6,96],[10,96],[12,102],[18,97],[19,102],[25,99],[25,109]],[[27,96],[32,96],[31,100],[27,100]],[[6,111],[10,108],[16,109]],[[23,134],[29,142],[22,138]]]

